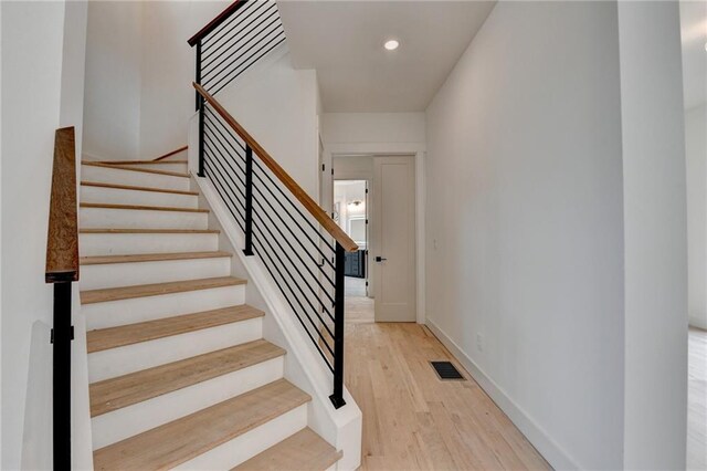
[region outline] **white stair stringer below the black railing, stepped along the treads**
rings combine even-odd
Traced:
[[[192,147],[190,160],[193,157],[191,149]],[[244,237],[213,185],[207,178],[196,176],[192,181],[197,182],[200,190],[199,206],[211,209],[209,228],[221,230],[220,249],[226,250],[223,247],[225,242],[236,254],[233,258],[233,274],[249,280],[245,286],[246,303],[265,312],[263,337],[287,350],[285,378],[312,396],[307,416],[309,428],[344,452],[344,457],[334,469],[356,470],[361,461],[361,410],[346,387],[346,405],[339,409],[334,408],[329,400],[331,374],[297,323],[295,314],[271,280],[270,273],[256,255],[243,254]]]

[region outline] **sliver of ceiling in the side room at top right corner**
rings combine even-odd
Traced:
[[[685,108],[707,102],[707,1],[680,1]]]

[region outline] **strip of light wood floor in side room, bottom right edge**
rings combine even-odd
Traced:
[[[687,379],[687,469],[707,469],[707,331],[690,327]]]

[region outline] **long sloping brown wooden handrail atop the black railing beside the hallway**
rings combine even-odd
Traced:
[[[226,112],[217,100],[209,94],[201,85],[192,82],[197,92],[221,115],[221,117],[241,136],[241,138],[253,149],[261,158],[263,164],[271,169],[277,179],[289,190],[291,193],[305,207],[305,209],[317,220],[317,222],[327,231],[347,252],[355,252],[358,245],[334,219],[326,213],[315,200],[275,161],[273,157],[251,136],[239,122]]]

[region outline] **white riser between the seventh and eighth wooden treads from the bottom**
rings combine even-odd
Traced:
[[[208,229],[207,212],[81,208],[84,229]]]

